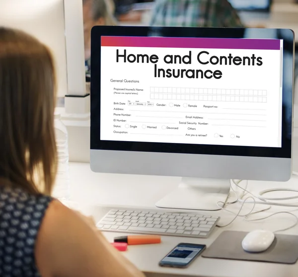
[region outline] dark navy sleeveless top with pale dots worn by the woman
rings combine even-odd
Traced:
[[[52,199],[0,186],[0,277],[40,277],[34,247]]]

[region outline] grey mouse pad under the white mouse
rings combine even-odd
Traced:
[[[298,260],[298,236],[276,234],[271,246],[261,253],[247,253],[241,242],[247,232],[224,231],[202,256],[242,261],[295,264]]]

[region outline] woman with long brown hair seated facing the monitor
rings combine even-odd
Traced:
[[[0,28],[0,276],[143,277],[94,224],[50,197],[54,99],[47,48]]]

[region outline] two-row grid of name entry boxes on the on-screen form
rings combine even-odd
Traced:
[[[150,99],[267,103],[267,90],[150,87]]]

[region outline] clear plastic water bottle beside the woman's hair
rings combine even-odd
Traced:
[[[57,145],[57,177],[53,196],[60,201],[69,200],[71,197],[69,174],[68,133],[66,126],[61,121],[60,113],[55,113],[55,136]]]

